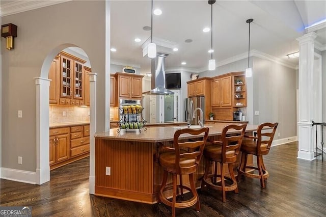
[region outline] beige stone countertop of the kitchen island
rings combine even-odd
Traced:
[[[215,124],[205,124],[204,127],[209,127],[208,136],[221,135],[224,126],[230,123],[215,123]],[[233,124],[233,123],[232,123]],[[238,125],[238,124],[237,124]],[[197,125],[192,125],[192,127],[198,127]],[[97,132],[94,134],[96,139],[104,140],[116,140],[116,141],[137,141],[137,142],[166,142],[173,141],[174,133],[177,129],[186,128],[187,126],[166,126],[166,127],[149,127],[147,130],[141,129],[121,129],[117,132],[117,128],[110,129],[106,132]],[[246,131],[257,130],[257,125],[247,125]],[[198,136],[197,136],[198,137]],[[180,137],[182,139],[196,138],[196,136],[184,135]]]

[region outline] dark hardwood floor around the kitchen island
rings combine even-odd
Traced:
[[[201,212],[176,209],[177,216],[325,216],[326,160],[296,158],[297,143],[275,146],[264,156],[269,178],[241,177],[239,194],[198,190]],[[89,194],[89,158],[51,171],[42,185],[1,179],[1,206],[32,206],[33,216],[170,216],[164,204],[142,204]]]

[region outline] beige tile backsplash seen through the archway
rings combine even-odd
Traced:
[[[90,107],[50,105],[50,124],[90,121]]]

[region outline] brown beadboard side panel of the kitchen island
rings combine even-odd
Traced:
[[[155,146],[143,142],[95,139],[95,195],[153,203]],[[111,175],[105,175],[111,167]]]

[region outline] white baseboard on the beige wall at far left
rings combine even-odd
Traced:
[[[11,181],[19,181],[29,184],[36,184],[36,173],[24,170],[15,170],[10,168],[0,168],[1,178]]]

